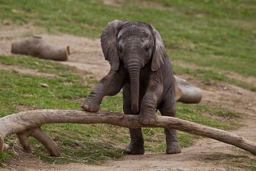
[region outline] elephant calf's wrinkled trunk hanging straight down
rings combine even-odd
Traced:
[[[139,62],[129,63],[128,71],[130,74],[131,83],[131,97],[132,97],[132,113],[137,114],[139,112],[139,73],[141,65]]]

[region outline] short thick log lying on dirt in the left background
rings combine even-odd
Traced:
[[[69,46],[59,47],[47,43],[39,36],[32,36],[29,39],[15,41],[12,43],[12,54],[32,55],[41,59],[54,61],[65,61],[70,54]]]

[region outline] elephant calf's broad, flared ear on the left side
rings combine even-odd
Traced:
[[[117,34],[119,28],[127,21],[114,20],[108,23],[100,35],[102,52],[107,61],[110,62],[111,70],[119,68],[119,54],[117,51]]]

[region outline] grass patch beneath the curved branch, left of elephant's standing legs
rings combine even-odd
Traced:
[[[123,148],[111,141],[115,137],[108,137],[110,132],[117,134],[119,131],[111,126],[54,124],[43,125],[43,129],[51,134],[62,152],[60,157],[50,157],[42,145],[33,150],[33,154],[48,163],[99,164],[104,159],[118,159],[123,154]],[[34,139],[31,142],[38,145]]]

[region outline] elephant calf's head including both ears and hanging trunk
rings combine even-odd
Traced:
[[[132,112],[139,112],[139,74],[141,68],[151,63],[157,71],[163,65],[165,46],[157,30],[146,23],[111,21],[102,32],[101,46],[111,70],[117,71],[120,63],[130,74]]]

